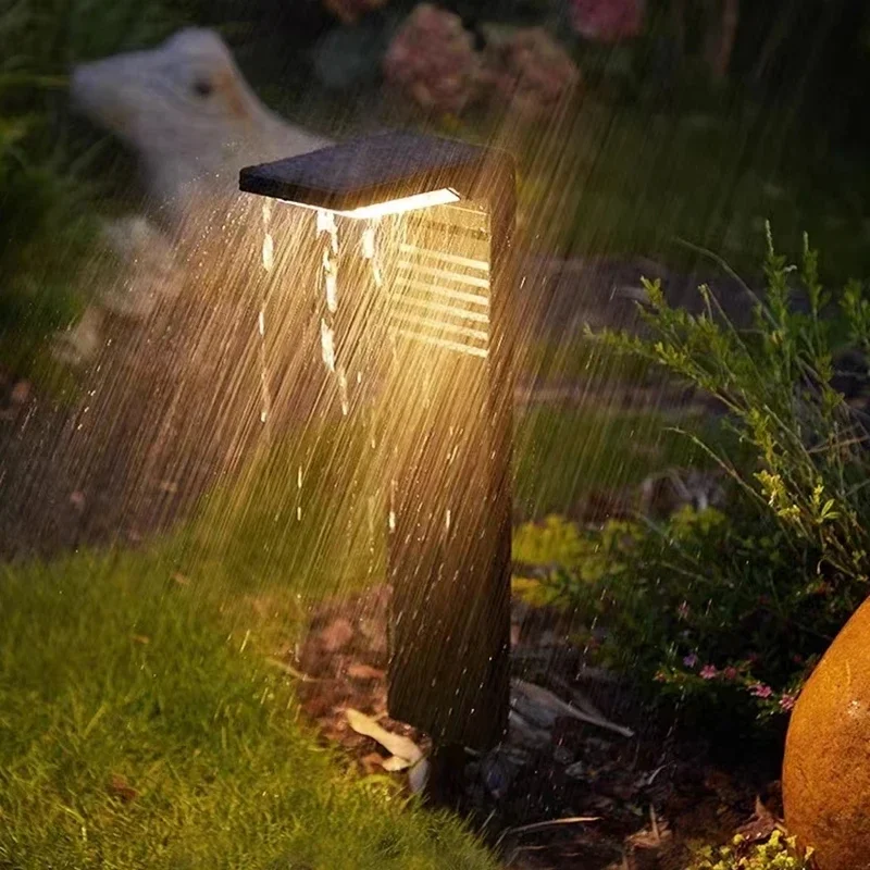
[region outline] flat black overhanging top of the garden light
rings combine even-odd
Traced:
[[[453,139],[385,133],[247,166],[239,174],[239,189],[349,211],[445,187],[468,186],[480,173],[487,152],[481,146]]]

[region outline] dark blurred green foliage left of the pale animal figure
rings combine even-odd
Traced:
[[[179,22],[162,0],[0,9],[0,363],[22,374],[88,294],[79,270],[95,237],[92,162],[104,142],[72,117],[70,69],[153,44]]]

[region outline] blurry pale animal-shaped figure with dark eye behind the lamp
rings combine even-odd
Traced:
[[[247,164],[330,144],[266,109],[208,29],[184,29],[154,49],[79,66],[72,96],[136,151],[149,194],[172,216],[198,196],[235,192]]]

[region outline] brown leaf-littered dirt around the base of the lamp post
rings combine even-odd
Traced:
[[[388,588],[377,587],[325,602],[304,641],[276,661],[324,739],[340,744],[362,774],[384,775],[390,753],[356,732],[348,710],[432,748],[387,714],[388,601]],[[443,761],[453,769],[438,795],[511,868],[676,870],[695,841],[724,842],[741,829],[750,838],[770,834],[781,815],[775,783],[759,791],[650,726],[630,686],[582,667],[559,614],[517,602],[512,627],[509,737],[486,755]]]

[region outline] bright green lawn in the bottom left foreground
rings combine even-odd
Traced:
[[[495,868],[318,743],[264,662],[274,625],[226,577],[174,572],[141,554],[0,569],[0,867]]]

